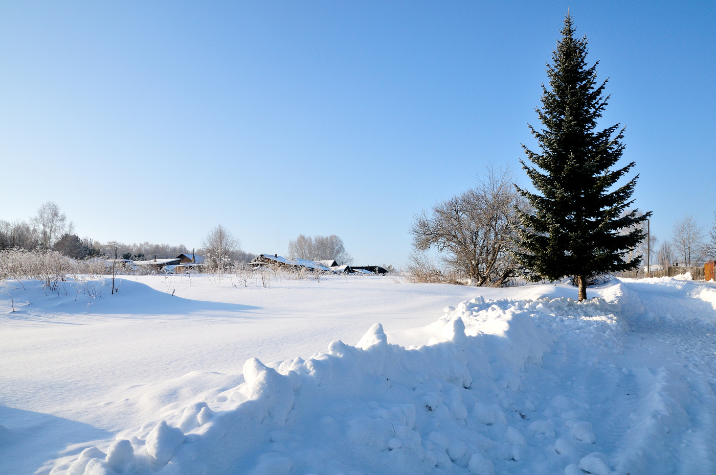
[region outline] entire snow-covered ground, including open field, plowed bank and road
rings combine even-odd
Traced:
[[[0,474],[716,474],[713,283],[234,284],[1,283]]]

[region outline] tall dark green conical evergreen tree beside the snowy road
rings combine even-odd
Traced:
[[[523,251],[516,257],[535,280],[572,276],[584,300],[590,278],[639,267],[642,256],[629,260],[627,253],[644,240],[641,223],[651,212],[629,209],[639,175],[611,190],[634,162],[611,170],[624,151],[624,128],[596,129],[609,99],[602,94],[606,81],[597,84],[599,62],[587,67],[586,36],[575,38],[574,31],[567,14],[547,64],[549,89],[542,85],[536,108],[544,129],[529,126],[540,152],[522,146],[536,165],[521,160],[538,193],[518,187],[533,210],[521,212]]]

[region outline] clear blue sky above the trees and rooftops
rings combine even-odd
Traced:
[[[712,1],[3,2],[0,219],[54,200],[103,242],[222,223],[253,253],[337,234],[400,265],[415,213],[518,170],[567,6],[652,231],[710,227]]]

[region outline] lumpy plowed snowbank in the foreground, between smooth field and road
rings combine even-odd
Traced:
[[[445,469],[493,475],[529,459],[533,446],[553,444],[557,461],[556,454],[581,454],[573,462],[601,474],[609,467],[606,459],[584,456],[594,451],[591,423],[582,420],[589,408],[556,396],[543,405],[548,420],[530,421],[538,416],[531,402],[538,394],[524,384],[527,368],[539,368],[553,351],[573,348],[586,368],[599,365],[602,353],[622,351],[624,325],[615,308],[602,298],[478,297],[445,308],[435,335],[417,348],[389,343],[376,323],[356,346],[333,341],[326,353],[276,368],[251,358],[235,388],[122,431],[114,441],[59,461],[51,473]]]

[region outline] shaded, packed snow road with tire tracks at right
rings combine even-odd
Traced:
[[[716,311],[702,298],[704,292],[714,290],[707,284],[674,279],[630,280],[622,285],[626,293],[621,313],[631,328],[625,337],[632,353],[629,359],[649,368],[635,368],[642,372],[639,406],[644,410],[625,434],[627,448],[621,452],[620,467],[644,466],[644,449],[639,447],[648,446],[652,473],[714,474]],[[679,416],[685,421],[673,431]],[[634,440],[635,431],[641,432],[636,439],[642,440]],[[655,446],[662,449],[654,451]],[[671,456],[677,464],[661,463]],[[679,467],[678,471],[666,471],[669,465]]]

